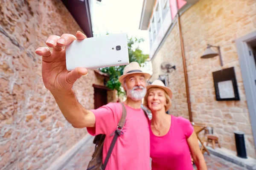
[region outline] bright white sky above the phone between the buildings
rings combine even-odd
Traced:
[[[140,44],[144,54],[149,54],[148,31],[139,30],[143,0],[92,0],[91,19],[93,34],[126,33],[128,37],[143,38]]]

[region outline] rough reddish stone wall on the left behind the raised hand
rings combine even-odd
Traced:
[[[51,34],[81,30],[58,0],[15,0],[0,4],[0,169],[46,169],[84,135],[58,109],[41,78],[35,49]],[[78,100],[94,107],[95,72],[75,84]],[[110,94],[111,98],[111,94]]]

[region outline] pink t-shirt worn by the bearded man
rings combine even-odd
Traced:
[[[140,109],[125,105],[127,116],[123,127],[123,135],[117,138],[105,170],[150,170],[150,141],[148,120]],[[103,162],[122,116],[120,103],[108,103],[96,110],[95,127],[87,127],[91,135],[106,134],[103,146]]]

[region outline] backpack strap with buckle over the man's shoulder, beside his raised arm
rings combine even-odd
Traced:
[[[111,153],[112,153],[112,150],[116,144],[116,140],[118,138],[118,136],[120,136],[122,134],[122,128],[124,127],[125,125],[125,118],[126,118],[126,109],[125,109],[125,105],[120,102],[122,104],[122,116],[121,116],[121,119],[119,120],[119,123],[116,127],[116,130],[114,132],[115,136],[113,137],[113,140],[109,146],[109,149],[108,149],[108,153],[107,153],[107,156],[105,158],[105,161],[104,161],[104,164],[102,165],[102,170],[105,170],[106,166],[107,166],[107,163],[108,163],[108,160],[111,156]]]

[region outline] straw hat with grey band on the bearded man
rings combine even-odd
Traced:
[[[119,82],[123,83],[123,80],[126,76],[136,73],[144,74],[145,79],[149,79],[151,77],[150,74],[142,71],[138,62],[130,62],[128,65],[125,66],[122,76],[119,77]]]

